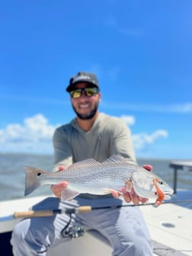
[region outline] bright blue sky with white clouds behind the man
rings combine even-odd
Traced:
[[[137,158],[192,158],[190,0],[0,3],[0,152],[53,154],[75,114],[66,86],[94,72],[99,111],[123,118]]]

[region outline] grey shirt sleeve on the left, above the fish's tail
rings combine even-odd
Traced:
[[[62,126],[53,134],[54,168],[58,171],[60,165],[72,165],[72,147],[69,145],[67,134],[62,131]]]

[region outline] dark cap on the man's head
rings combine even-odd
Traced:
[[[98,78],[96,75],[93,73],[87,73],[87,72],[78,72],[77,75],[74,75],[70,80],[69,80],[69,85],[66,88],[66,91],[72,91],[74,86],[78,83],[81,82],[88,82],[91,85],[94,85],[99,88],[98,84]]]

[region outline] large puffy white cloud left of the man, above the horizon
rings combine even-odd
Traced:
[[[56,126],[42,114],[24,119],[24,123],[12,123],[0,130],[0,142],[5,152],[52,152],[52,137]]]

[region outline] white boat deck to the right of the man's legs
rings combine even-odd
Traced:
[[[174,249],[166,249],[166,251],[172,253],[170,255],[175,255],[173,251],[180,251],[186,255],[192,255],[191,209],[174,204],[164,204],[159,206],[158,209],[153,209],[150,206],[142,206],[141,210],[145,216],[152,241]],[[154,249],[155,251],[158,250]]]

